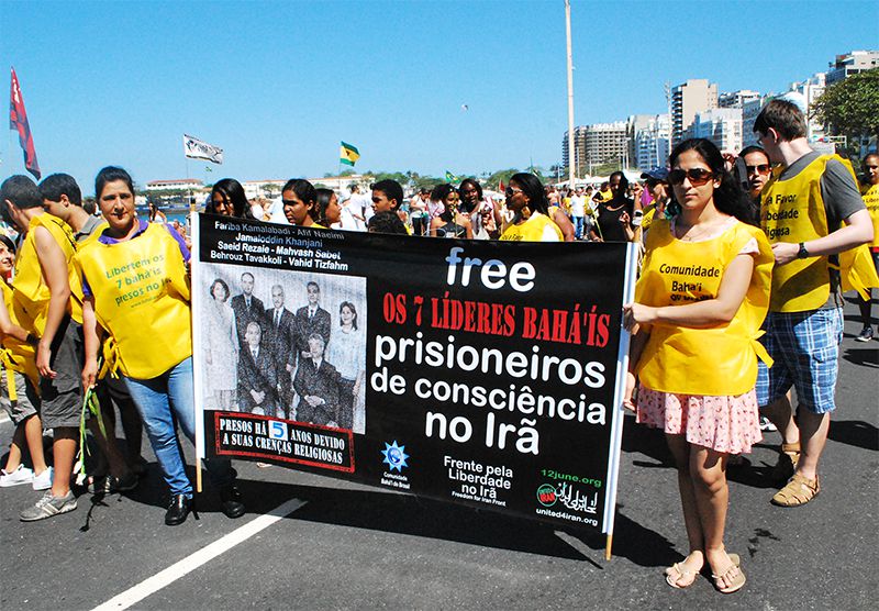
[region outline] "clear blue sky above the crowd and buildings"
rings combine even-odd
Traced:
[[[665,81],[780,91],[879,48],[872,0],[571,4],[578,125],[664,112]],[[340,140],[357,170],[548,168],[567,129],[563,0],[0,0],[3,91],[10,66],[44,175],[86,193],[109,164],[138,182],[323,176]],[[225,163],[187,166],[183,133]],[[23,170],[5,140],[2,176]]]

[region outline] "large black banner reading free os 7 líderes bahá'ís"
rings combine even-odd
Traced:
[[[202,456],[611,531],[625,244],[197,225]]]

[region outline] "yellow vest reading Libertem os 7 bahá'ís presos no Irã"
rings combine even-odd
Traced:
[[[104,358],[115,359],[111,370],[151,379],[192,355],[186,264],[165,226],[151,223],[116,244],[89,241],[74,265],[94,297],[98,322],[111,335],[104,346]]]

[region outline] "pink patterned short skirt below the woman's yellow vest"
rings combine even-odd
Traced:
[[[726,454],[745,454],[763,438],[757,393],[735,397],[674,395],[641,387],[637,421],[692,445]]]

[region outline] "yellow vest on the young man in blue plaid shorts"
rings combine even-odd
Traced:
[[[821,176],[830,159],[836,159],[852,171],[852,165],[838,155],[821,155],[797,176],[786,180],[779,178],[782,168],[772,171],[760,196],[760,226],[770,243],[798,244],[830,233],[827,211],[821,196]],[[864,295],[867,288],[879,286],[866,245],[841,253],[838,258],[844,291],[856,289]],[[804,312],[824,306],[831,293],[831,266],[826,256],[816,256],[776,267],[769,310]]]

